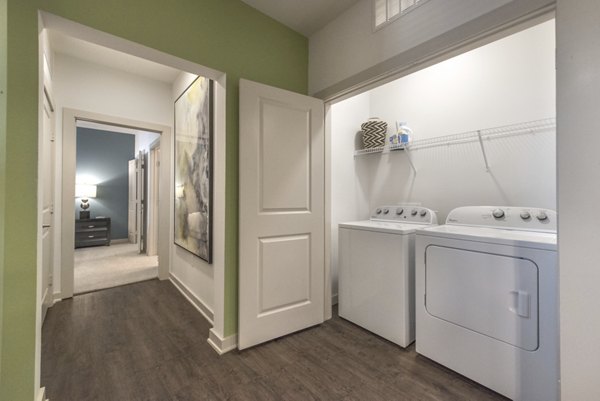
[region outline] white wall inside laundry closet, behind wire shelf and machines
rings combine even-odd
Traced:
[[[334,277],[336,214],[367,219],[378,205],[410,202],[443,222],[465,205],[556,208],[553,132],[486,141],[489,172],[478,142],[412,151],[416,176],[405,152],[354,157],[348,145],[365,117],[388,133],[407,121],[416,139],[554,117],[554,49],[552,20],[332,106]]]

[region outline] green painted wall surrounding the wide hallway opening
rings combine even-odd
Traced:
[[[239,79],[308,86],[307,39],[238,0],[8,0],[1,401],[34,397],[38,9],[227,73],[226,336],[237,331]]]

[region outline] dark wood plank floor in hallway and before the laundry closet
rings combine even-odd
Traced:
[[[209,328],[168,281],[59,302],[42,385],[50,401],[505,399],[337,316],[221,357]]]

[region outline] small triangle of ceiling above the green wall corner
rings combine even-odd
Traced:
[[[242,1],[304,36],[310,36],[360,0]]]

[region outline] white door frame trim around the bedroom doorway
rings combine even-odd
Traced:
[[[62,141],[62,201],[61,201],[61,298],[73,296],[74,261],[75,261],[75,199],[76,144],[77,121],[95,122],[114,125],[117,127],[139,129],[160,134],[161,164],[171,164],[171,128],[154,123],[136,121],[122,117],[108,116],[89,111],[65,108],[63,110],[63,141]],[[159,198],[162,207],[158,211],[158,224],[169,227],[158,233],[158,278],[169,278],[171,260],[170,247],[170,210],[171,210],[171,174],[168,169],[161,170]]]

